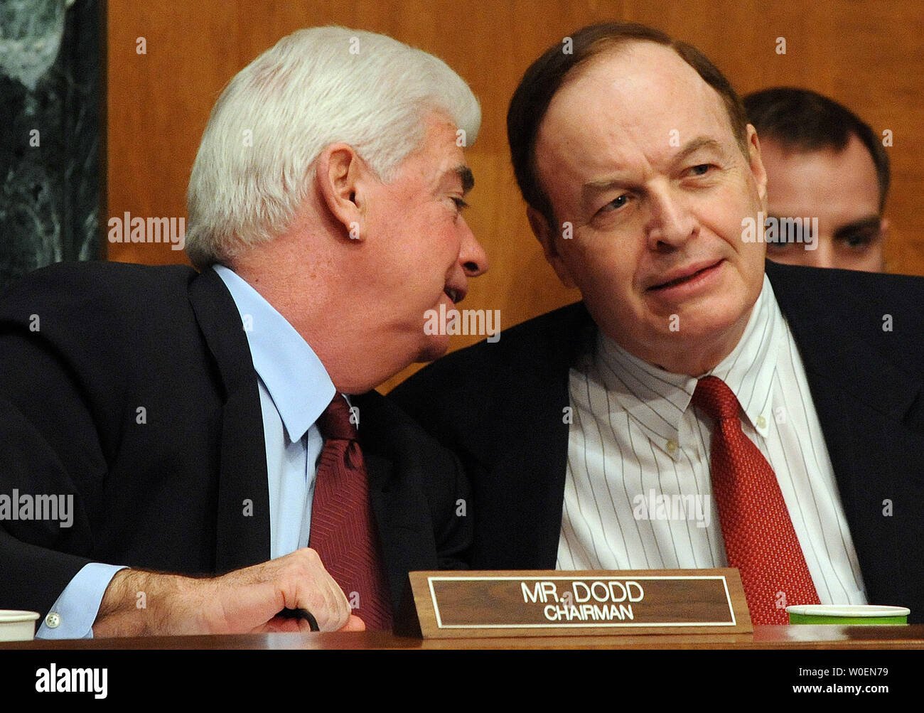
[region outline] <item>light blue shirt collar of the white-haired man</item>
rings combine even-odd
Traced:
[[[213,270],[237,305],[253,368],[273,398],[289,441],[300,441],[334,398],[334,382],[309,344],[259,292],[224,265]]]

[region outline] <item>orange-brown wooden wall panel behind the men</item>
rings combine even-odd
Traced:
[[[924,275],[924,4],[861,0],[109,0],[107,217],[185,216],[185,191],[209,111],[238,69],[300,27],[335,23],[390,34],[442,57],[479,96],[483,120],[468,151],[477,185],[467,219],[492,263],[468,308],[500,309],[503,326],[577,299],[529,233],[505,139],[506,105],[529,63],[571,30],[602,19],[645,22],[694,42],[741,93],[794,84],[892,129],[886,212],[892,272]],[[144,37],[147,54],[136,54]],[[776,54],[776,38],[786,54]],[[109,245],[112,260],[182,262],[167,246]],[[454,337],[453,347],[477,341]],[[386,382],[387,390],[407,373]]]

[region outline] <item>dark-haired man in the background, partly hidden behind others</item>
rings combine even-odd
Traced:
[[[857,115],[815,91],[780,87],[744,98],[760,137],[771,217],[818,219],[805,242],[767,244],[790,265],[883,272],[889,155]]]

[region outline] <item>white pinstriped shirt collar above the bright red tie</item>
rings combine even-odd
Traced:
[[[710,372],[735,393],[751,425],[762,436],[769,432],[772,379],[778,355],[775,345],[784,333],[783,313],[764,275],[741,339]],[[677,444],[684,437],[683,416],[699,378],[659,369],[629,354],[600,330],[597,343],[594,362],[607,392],[656,446],[672,458],[680,457]]]

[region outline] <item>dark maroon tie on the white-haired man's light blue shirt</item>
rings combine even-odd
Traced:
[[[382,562],[376,548],[375,527],[369,507],[366,463],[350,422],[349,406],[339,393],[321,417],[324,438],[311,502],[309,546],[344,590],[367,629],[391,629]]]

